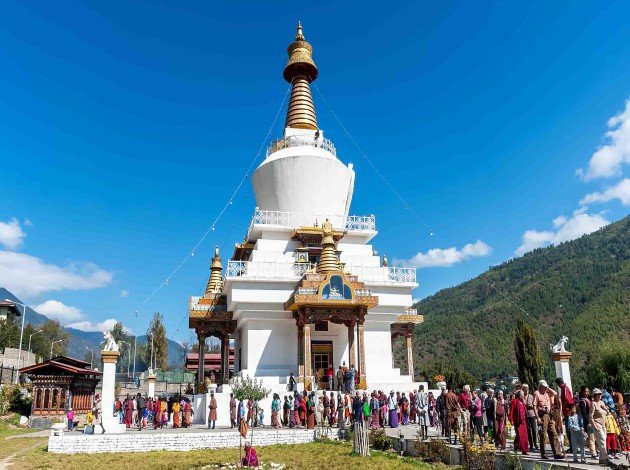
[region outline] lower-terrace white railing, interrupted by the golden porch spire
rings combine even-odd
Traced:
[[[299,279],[313,263],[287,263],[283,261],[230,261],[226,278],[245,277],[258,279]],[[403,284],[416,282],[416,268],[395,266],[345,266],[346,271],[362,282],[382,284]],[[369,289],[366,289],[369,291]],[[370,294],[366,294],[370,295]]]

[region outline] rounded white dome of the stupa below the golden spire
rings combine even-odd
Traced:
[[[346,216],[354,170],[324,148],[303,145],[269,155],[253,182],[260,210]]]

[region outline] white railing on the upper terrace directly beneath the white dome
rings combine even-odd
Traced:
[[[326,220],[334,228],[341,230],[376,230],[374,215],[333,215],[309,214],[306,212],[265,211],[256,209],[250,223],[250,232],[254,225],[280,225],[282,227],[312,227],[321,226]]]

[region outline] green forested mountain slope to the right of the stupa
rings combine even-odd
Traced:
[[[582,366],[604,341],[630,347],[630,216],[507,261],[416,307],[424,315],[413,342],[420,372],[430,374],[435,364],[448,363],[480,380],[514,374],[520,317],[536,330],[549,377],[549,344],[568,336],[573,383],[578,384]],[[404,363],[402,348],[395,353]]]

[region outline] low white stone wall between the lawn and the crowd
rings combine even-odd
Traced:
[[[339,430],[324,428],[330,439],[339,438]],[[304,444],[313,442],[321,435],[320,429],[254,430],[254,446],[274,444]],[[57,454],[103,453],[103,452],[149,452],[153,450],[188,451],[238,447],[236,431],[199,431],[143,433],[129,431],[124,434],[68,434],[48,439],[48,452]]]

